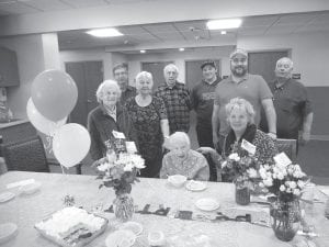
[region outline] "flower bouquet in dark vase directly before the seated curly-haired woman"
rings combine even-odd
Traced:
[[[259,181],[259,167],[257,157],[242,149],[238,143],[232,145],[231,154],[222,161],[223,178],[235,183],[238,204],[250,203],[250,190]]]

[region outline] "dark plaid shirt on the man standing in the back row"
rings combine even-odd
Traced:
[[[170,133],[178,131],[188,133],[191,111],[190,90],[177,81],[172,88],[169,88],[167,83],[160,86],[155,91],[155,96],[164,101]]]

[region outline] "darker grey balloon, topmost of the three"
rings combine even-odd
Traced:
[[[59,121],[73,110],[78,100],[78,88],[68,74],[56,69],[45,70],[35,77],[31,98],[42,115]]]

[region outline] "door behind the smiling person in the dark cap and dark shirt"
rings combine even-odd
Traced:
[[[192,89],[195,85],[197,85],[202,80],[202,70],[201,65],[209,59],[203,60],[186,60],[185,61],[185,78],[186,86]],[[217,76],[220,75],[219,60],[214,60],[217,67]]]

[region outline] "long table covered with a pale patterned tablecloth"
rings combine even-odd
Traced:
[[[7,184],[24,179],[35,179],[42,183],[41,191],[31,195],[16,195],[13,200],[0,203],[0,223],[13,222],[19,226],[18,236],[3,244],[3,247],[55,247],[52,242],[42,237],[35,229],[34,224],[41,222],[52,213],[63,209],[63,198],[71,194],[77,205],[86,210],[92,210],[102,204],[104,209],[112,204],[114,191],[111,188],[99,189],[100,180],[94,176],[36,173],[24,171],[10,171],[0,176],[0,192],[8,191]],[[185,188],[172,188],[167,180],[141,178],[139,183],[133,186],[132,195],[137,205],[149,203],[158,206],[163,204],[172,209],[197,211],[194,202],[200,198],[212,197],[220,202],[222,206],[235,205],[234,186],[230,183],[208,182],[207,189],[202,192],[188,191]],[[18,189],[11,189],[18,193]],[[317,198],[326,200],[326,197],[317,192]],[[329,246],[329,221],[324,216],[322,203],[316,203],[316,228],[320,237],[315,239],[318,247]],[[114,214],[103,213],[110,224],[101,236],[89,246],[104,247],[104,240],[114,231]],[[218,246],[243,247],[243,246],[296,246],[303,239],[296,236],[291,243],[283,243],[268,227],[241,222],[197,222],[170,218],[158,215],[134,214],[133,221],[144,226],[144,232],[137,238],[135,247],[146,247],[149,231],[160,229],[166,237],[178,233],[204,233],[216,239]]]

